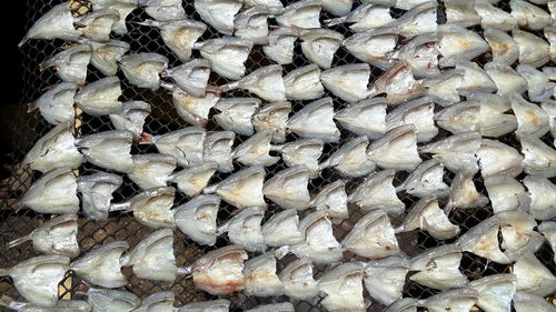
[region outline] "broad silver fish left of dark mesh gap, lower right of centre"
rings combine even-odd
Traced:
[[[361,217],[344,238],[341,246],[357,255],[380,259],[399,254],[399,245],[390,219],[381,210]]]

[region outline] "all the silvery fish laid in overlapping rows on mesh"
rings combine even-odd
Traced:
[[[556,276],[534,254],[545,241],[556,249],[556,150],[546,142],[548,132],[556,135],[556,68],[546,67],[556,61],[556,1],[510,0],[507,12],[492,0],[445,0],[441,8],[430,0],[195,0],[203,22],[187,18],[181,0],[90,2],[92,11],[80,18],[69,2],[53,7],[21,43],[73,42],[41,64],[63,82],[31,105],[54,127],[24,159],[43,175],[21,199],[36,212],[61,215],[8,244],[32,241],[47,254],[0,271],[29,301],[3,300],[11,308],[173,311],[171,292],[141,301],[110,290],[128,284],[121,268],[131,266],[145,280],[191,276],[212,295],[320,298],[327,311],[369,304],[389,312],[556,311],[544,300],[556,291]],[[126,18],[139,7],[152,18],[141,27],[159,29],[182,64],[170,68],[166,56],[130,53],[129,43],[111,39],[128,32]],[[322,10],[338,18],[321,21]],[[338,24],[349,31],[332,30]],[[221,37],[199,42],[209,27]],[[284,76],[299,57],[298,40],[307,62]],[[274,64],[247,73],[257,46]],[[332,67],[340,49],[359,62]],[[89,64],[107,78],[83,85]],[[377,70],[381,76],[369,81]],[[145,132],[151,104],[121,102],[119,72],[136,88],[171,92],[189,125]],[[211,73],[228,83],[210,85]],[[236,89],[252,97],[231,97]],[[76,137],[76,107],[108,115],[115,130]],[[497,140],[514,134],[520,151]],[[133,144],[159,153],[131,154]],[[107,172],[76,177],[85,162]],[[267,175],[279,162],[286,169]],[[341,179],[315,190],[310,181],[324,172]],[[142,191],[112,202],[120,174]],[[211,183],[215,174],[225,178]],[[396,177],[405,179],[395,185]],[[177,191],[189,199],[179,207]],[[219,222],[222,204],[236,212]],[[465,233],[448,218],[487,205],[492,215]],[[115,241],[71,261],[80,254],[81,208],[92,221],[119,211],[156,231],[129,252],[126,241]],[[335,230],[354,215],[339,239]],[[199,245],[221,235],[231,244],[178,266],[176,228]],[[399,234],[416,230],[447,242],[408,255]],[[459,269],[464,252],[513,265],[512,273],[469,281]],[[326,268],[318,279],[314,264]],[[87,301],[58,301],[70,270],[90,285]],[[407,280],[441,292],[403,298]],[[179,311],[229,308],[220,299]]]

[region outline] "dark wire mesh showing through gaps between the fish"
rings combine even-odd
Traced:
[[[46,11],[48,11],[52,6],[59,3],[59,0],[27,0],[29,11],[27,13],[27,20],[29,28],[34,20],[41,17]],[[79,0],[81,6],[87,6],[85,0]],[[282,1],[285,4],[292,1]],[[359,1],[355,1],[355,6],[359,4]],[[507,1],[502,1],[500,7],[505,10],[508,10]],[[189,18],[195,20],[201,20],[200,17],[195,12],[195,8],[191,0],[183,1],[183,8]],[[78,10],[78,9],[77,9]],[[393,10],[393,16],[395,18],[399,17],[403,11]],[[328,14],[326,11],[322,11],[321,20],[332,18],[332,16]],[[131,52],[157,52],[163,56],[167,56],[170,60],[169,67],[173,67],[180,63],[177,57],[165,46],[162,39],[159,36],[159,30],[156,28],[150,28],[146,26],[139,26],[136,22],[143,21],[148,19],[148,16],[141,10],[135,10],[128,17],[128,29],[129,33],[118,38],[120,40],[127,41],[131,44]],[[439,22],[444,21],[444,17],[441,14],[441,10],[439,9]],[[270,21],[271,23],[272,21]],[[344,33],[346,37],[350,36],[350,31],[346,28],[346,26],[339,24],[331,27],[332,30],[336,30],[340,33]],[[221,37],[215,29],[210,26],[206,33],[199,39],[199,41],[203,41],[211,38]],[[63,47],[63,41],[44,41],[44,40],[31,40],[22,48],[22,53],[26,56],[23,67],[23,80],[24,80],[24,90],[23,90],[23,99],[22,102],[27,103],[37,99],[40,94],[42,94],[43,90],[49,85],[53,85],[59,82],[59,78],[52,70],[46,70],[43,72],[39,72],[39,63],[47,59],[48,57],[54,54],[57,51],[60,51]],[[299,44],[296,44],[294,63],[285,66],[285,74],[296,68],[301,66],[306,66],[309,62],[306,60],[304,54],[300,51]],[[193,51],[193,58],[200,58],[198,51]],[[484,63],[487,61],[487,57],[483,56],[478,61],[479,63]],[[340,48],[335,57],[332,66],[341,66],[358,62],[353,56],[350,56],[347,50]],[[257,68],[262,66],[270,64],[270,61],[265,57],[261,47],[255,47],[249,60],[246,63],[247,72],[251,72]],[[371,81],[378,78],[383,73],[381,70],[375,68],[371,72]],[[171,94],[167,91],[150,91],[138,89],[131,87],[121,71],[118,72],[118,76],[122,82],[123,90],[123,99],[122,100],[143,100],[152,104],[152,112],[150,117],[147,118],[145,131],[152,134],[162,134],[169,131],[173,131],[186,127],[186,123],[178,117],[176,110],[171,104]],[[92,82],[98,79],[103,78],[98,70],[92,67],[89,67],[89,73],[87,78],[87,82]],[[215,73],[210,77],[210,84],[221,85],[227,82],[230,82],[224,78],[219,78]],[[235,97],[250,97],[251,94],[245,91],[232,91],[228,92],[226,95],[235,95]],[[335,101],[335,110],[339,110],[345,107],[345,102],[339,100],[337,97],[327,91],[326,95],[332,97]],[[298,111],[307,101],[291,101],[292,110]],[[108,117],[105,118],[93,118],[87,114],[82,114],[79,117],[82,121],[79,134],[87,135],[90,133],[97,133],[106,130],[111,130],[112,125]],[[22,124],[20,127],[20,135],[17,140],[17,145],[14,152],[11,154],[11,159],[13,160],[13,164],[21,162],[26,152],[32,147],[34,141],[42,137],[51,127],[47,124],[47,122],[41,118],[38,112],[30,113],[26,115],[27,124]],[[321,157],[321,160],[327,159],[332,152],[335,152],[339,147],[342,145],[342,142],[347,142],[349,139],[354,138],[355,134],[348,132],[338,124],[338,128],[341,131],[341,141],[339,144],[326,144],[325,150]],[[207,125],[207,130],[221,130],[216,125],[214,121],[209,122]],[[447,135],[446,132],[440,132],[436,138],[441,138],[443,135]],[[237,135],[235,145],[238,145],[246,137]],[[295,134],[288,134],[287,141],[296,140]],[[435,140],[436,140],[435,139]],[[507,138],[500,138],[500,141],[514,145],[518,148],[517,141],[513,137],[513,134]],[[155,147],[151,145],[138,145],[135,144],[132,148],[132,153],[153,153],[157,152]],[[235,163],[236,171],[241,168],[241,164]],[[279,161],[277,164],[267,168],[267,177],[271,177],[276,172],[285,169],[286,165],[282,161]],[[99,168],[95,168],[93,165],[87,163],[80,169],[80,174],[89,174],[97,170],[101,170]],[[210,184],[221,181],[227,174],[216,174]],[[404,179],[407,177],[405,173],[397,173],[395,179],[395,184],[401,183]],[[17,210],[17,199],[21,197],[21,194],[29,188],[31,182],[37,178],[36,173],[32,173],[26,169],[21,169],[16,167],[13,170],[13,175],[7,181],[7,185],[9,188],[9,199],[3,199],[0,204],[0,245],[4,245],[7,242],[24,235],[37,228],[38,224],[49,219],[49,215],[38,214],[31,210],[23,209]],[[451,175],[447,173],[445,175],[446,182],[450,182]],[[523,177],[518,177],[523,178]],[[327,169],[320,173],[317,179],[314,179],[309,183],[309,190],[311,194],[317,193],[322,187],[326,184],[334,182],[338,179],[345,178],[340,177],[335,171]],[[363,181],[363,179],[351,179],[346,180],[346,191],[349,193],[353,189],[355,189],[358,183]],[[486,193],[484,190],[480,180],[476,180],[477,187],[479,191]],[[115,193],[113,202],[121,202],[133,194],[138,193],[139,188],[132,183],[128,178],[125,177],[123,185]],[[398,194],[403,201],[406,203],[407,208],[410,208],[415,202],[416,198],[399,193]],[[188,198],[183,197],[179,192],[177,192],[176,205],[180,205],[188,201]],[[441,202],[441,204],[444,204]],[[278,208],[269,203],[269,210],[267,219]],[[234,213],[232,207],[222,202],[220,211],[218,213],[218,222],[219,224],[224,223],[226,220],[230,218]],[[493,215],[492,209],[474,209],[468,211],[455,211],[450,214],[450,220],[461,227],[461,233],[465,233],[469,228],[478,224],[481,220]],[[355,222],[363,217],[363,212],[350,208],[350,218],[348,220],[344,220],[339,224],[335,224],[335,236],[340,241],[353,228]],[[302,215],[300,215],[302,218]],[[400,220],[394,220],[400,221]],[[81,248],[81,254],[87,253],[87,251],[92,248],[108,243],[115,240],[126,240],[130,248],[133,248],[141,239],[151,233],[152,230],[148,229],[138,222],[136,222],[130,214],[121,213],[121,214],[111,214],[109,220],[99,221],[99,222],[90,222],[85,217],[79,218],[79,233],[78,241]],[[398,235],[398,241],[400,243],[401,249],[407,252],[409,255],[414,255],[419,253],[424,249],[429,249],[434,246],[441,245],[444,243],[450,243],[455,241],[455,239],[441,242],[434,238],[431,238],[428,233],[423,231],[414,231],[409,233],[403,233]],[[196,259],[201,256],[209,250],[214,250],[216,248],[220,248],[229,244],[227,236],[220,236],[215,246],[200,246],[197,243],[192,242],[183,233],[176,230],[175,231],[175,252],[178,261],[178,265],[189,265],[195,262]],[[32,249],[30,243],[24,243],[11,250],[2,250],[0,252],[0,263],[1,266],[9,266],[16,264],[19,261],[37,255],[37,252]],[[355,258],[348,253],[345,254],[346,259]],[[556,266],[553,262],[553,252],[548,246],[543,246],[538,252],[537,256],[539,260],[553,271],[556,271]],[[279,261],[278,271],[280,271],[288,261],[292,259],[292,256],[287,256],[286,259]],[[316,278],[319,278],[322,273],[325,266],[316,266]],[[464,254],[464,259],[461,261],[461,271],[469,276],[470,280],[478,279],[484,275],[490,275],[494,273],[503,273],[509,272],[508,265],[496,264],[486,261],[485,259],[475,256],[469,253]],[[131,291],[139,295],[140,298],[145,298],[153,292],[161,290],[172,290],[176,294],[177,303],[176,305],[182,305],[187,302],[192,301],[205,301],[215,299],[214,296],[197,291],[192,284],[191,279],[181,279],[179,278],[176,283],[156,283],[146,280],[139,280],[136,276],[132,276],[131,269],[125,268],[123,273],[129,278],[129,283],[126,286],[126,290]],[[72,286],[63,286],[63,292],[61,296],[69,293],[72,299],[81,299],[83,292],[87,290],[87,286],[80,282],[79,278],[69,275],[68,279],[71,279]],[[66,285],[66,283],[62,283]],[[404,295],[413,296],[413,298],[428,298],[429,295],[437,293],[438,291],[431,290],[429,288],[416,284],[407,280]],[[16,290],[11,286],[11,282],[7,278],[0,278],[0,293],[6,293],[10,296],[21,299]],[[366,298],[369,295],[366,293]],[[279,302],[287,301],[286,296],[284,298],[272,298],[272,299],[259,299],[259,298],[247,298],[242,294],[235,294],[229,298],[232,302],[231,311],[241,311],[245,309],[254,308],[260,303],[270,303],[270,302]],[[294,302],[296,305],[296,311],[324,311],[319,306],[319,299],[315,299],[311,302]],[[373,303],[370,306],[370,311],[381,311],[384,306],[378,303]]]

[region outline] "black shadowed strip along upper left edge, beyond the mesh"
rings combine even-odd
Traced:
[[[26,120],[14,120],[17,111],[24,109],[21,103],[23,90],[23,66],[22,56],[18,49],[18,42],[26,33],[27,1],[10,1],[4,8],[4,18],[1,19],[2,29],[2,100],[0,101],[0,177],[6,177],[7,154],[13,149],[14,127],[24,123]],[[10,18],[7,18],[9,16]]]

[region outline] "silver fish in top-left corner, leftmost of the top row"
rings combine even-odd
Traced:
[[[23,47],[30,39],[63,39],[75,41],[78,38],[79,34],[73,28],[70,1],[67,1],[52,7],[34,21],[21,42],[19,42],[18,47]]]

